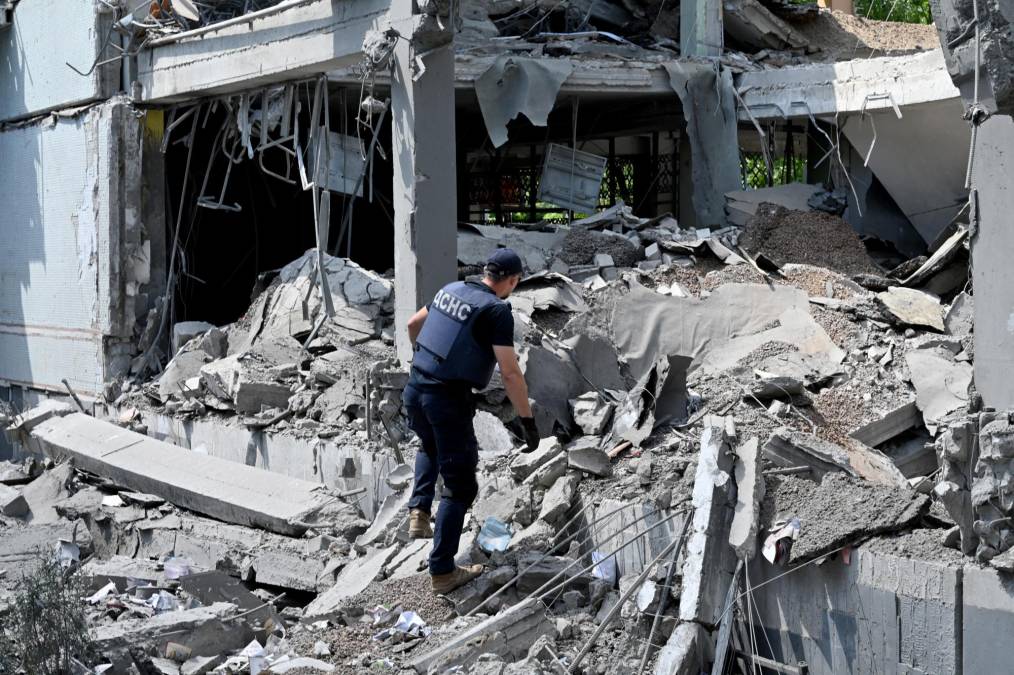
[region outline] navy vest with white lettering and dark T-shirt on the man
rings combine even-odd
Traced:
[[[473,326],[483,309],[502,302],[485,285],[454,282],[437,291],[416,339],[413,367],[444,382],[485,388],[497,362],[492,345],[476,342]]]

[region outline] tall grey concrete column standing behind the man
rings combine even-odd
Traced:
[[[403,26],[411,23],[409,17],[394,25],[409,35]],[[391,134],[394,329],[403,364],[412,359],[409,317],[453,281],[457,270],[453,46],[428,51],[426,70],[414,80],[415,57],[413,45],[400,40],[391,80]]]

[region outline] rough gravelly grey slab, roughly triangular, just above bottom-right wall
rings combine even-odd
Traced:
[[[840,471],[819,483],[794,476],[768,478],[762,523],[767,530],[787,518],[801,529],[789,564],[797,565],[855,546],[876,534],[904,529],[927,512],[930,499],[908,489],[877,485]]]

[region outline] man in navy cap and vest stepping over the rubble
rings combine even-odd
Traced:
[[[472,419],[473,388],[483,389],[500,367],[504,389],[521,418],[525,452],[538,446],[528,387],[514,353],[514,318],[505,300],[521,280],[521,258],[500,248],[486,264],[482,281],[454,282],[409,319],[415,349],[404,402],[409,425],[422,441],[409,501],[409,534],[433,537],[429,568],[433,592],[448,593],[480,574],[483,566],[454,564],[464,514],[476,499],[479,446]],[[430,509],[437,474],[443,492],[436,528]]]

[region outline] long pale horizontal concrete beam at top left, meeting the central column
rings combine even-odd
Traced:
[[[155,41],[137,57],[136,97],[166,103],[248,90],[350,66],[390,0],[289,0],[241,22]]]

